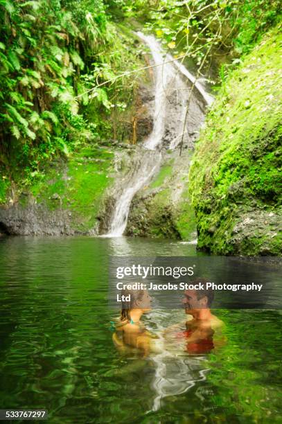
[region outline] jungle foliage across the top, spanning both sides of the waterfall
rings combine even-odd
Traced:
[[[227,56],[237,66],[277,19],[279,0],[0,0],[0,202],[53,158],[122,138],[144,65],[130,28],[224,82]]]

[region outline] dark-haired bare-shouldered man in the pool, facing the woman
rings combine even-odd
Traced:
[[[196,279],[196,283],[206,283],[206,279]],[[171,343],[184,342],[188,353],[210,353],[213,348],[222,344],[216,336],[223,326],[222,321],[211,313],[213,290],[186,290],[182,304],[185,313],[190,316],[187,321],[182,321],[166,330],[166,339]]]

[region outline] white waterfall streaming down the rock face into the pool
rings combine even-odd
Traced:
[[[161,51],[159,42],[151,35],[137,33],[139,38],[146,43],[152,54],[155,69],[155,113],[152,133],[137,149],[132,158],[131,170],[118,182],[116,188],[116,204],[109,222],[108,232],[103,237],[120,237],[127,225],[130,204],[134,195],[145,186],[157,173],[161,165],[160,148],[174,150],[182,139],[183,125],[186,116],[187,101],[189,98],[188,87],[182,80],[180,73],[190,80],[197,91],[200,92],[205,102],[210,105],[212,98],[206,93],[200,82],[184,67],[183,64],[173,60],[170,55]],[[191,134],[202,123],[204,112],[197,102],[189,103],[189,126]],[[186,139],[188,134],[184,133]]]

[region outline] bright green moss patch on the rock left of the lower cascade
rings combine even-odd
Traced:
[[[114,152],[107,146],[88,145],[69,157],[67,164],[53,161],[44,177],[28,187],[37,204],[49,211],[65,209],[74,232],[94,229],[101,209],[103,193],[112,182]],[[19,197],[22,206],[26,195]]]

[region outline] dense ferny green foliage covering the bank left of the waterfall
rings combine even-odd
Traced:
[[[54,157],[112,137],[109,116],[118,119],[136,82],[105,82],[134,69],[138,50],[102,0],[2,0],[0,10],[3,201],[13,181],[30,184]]]

